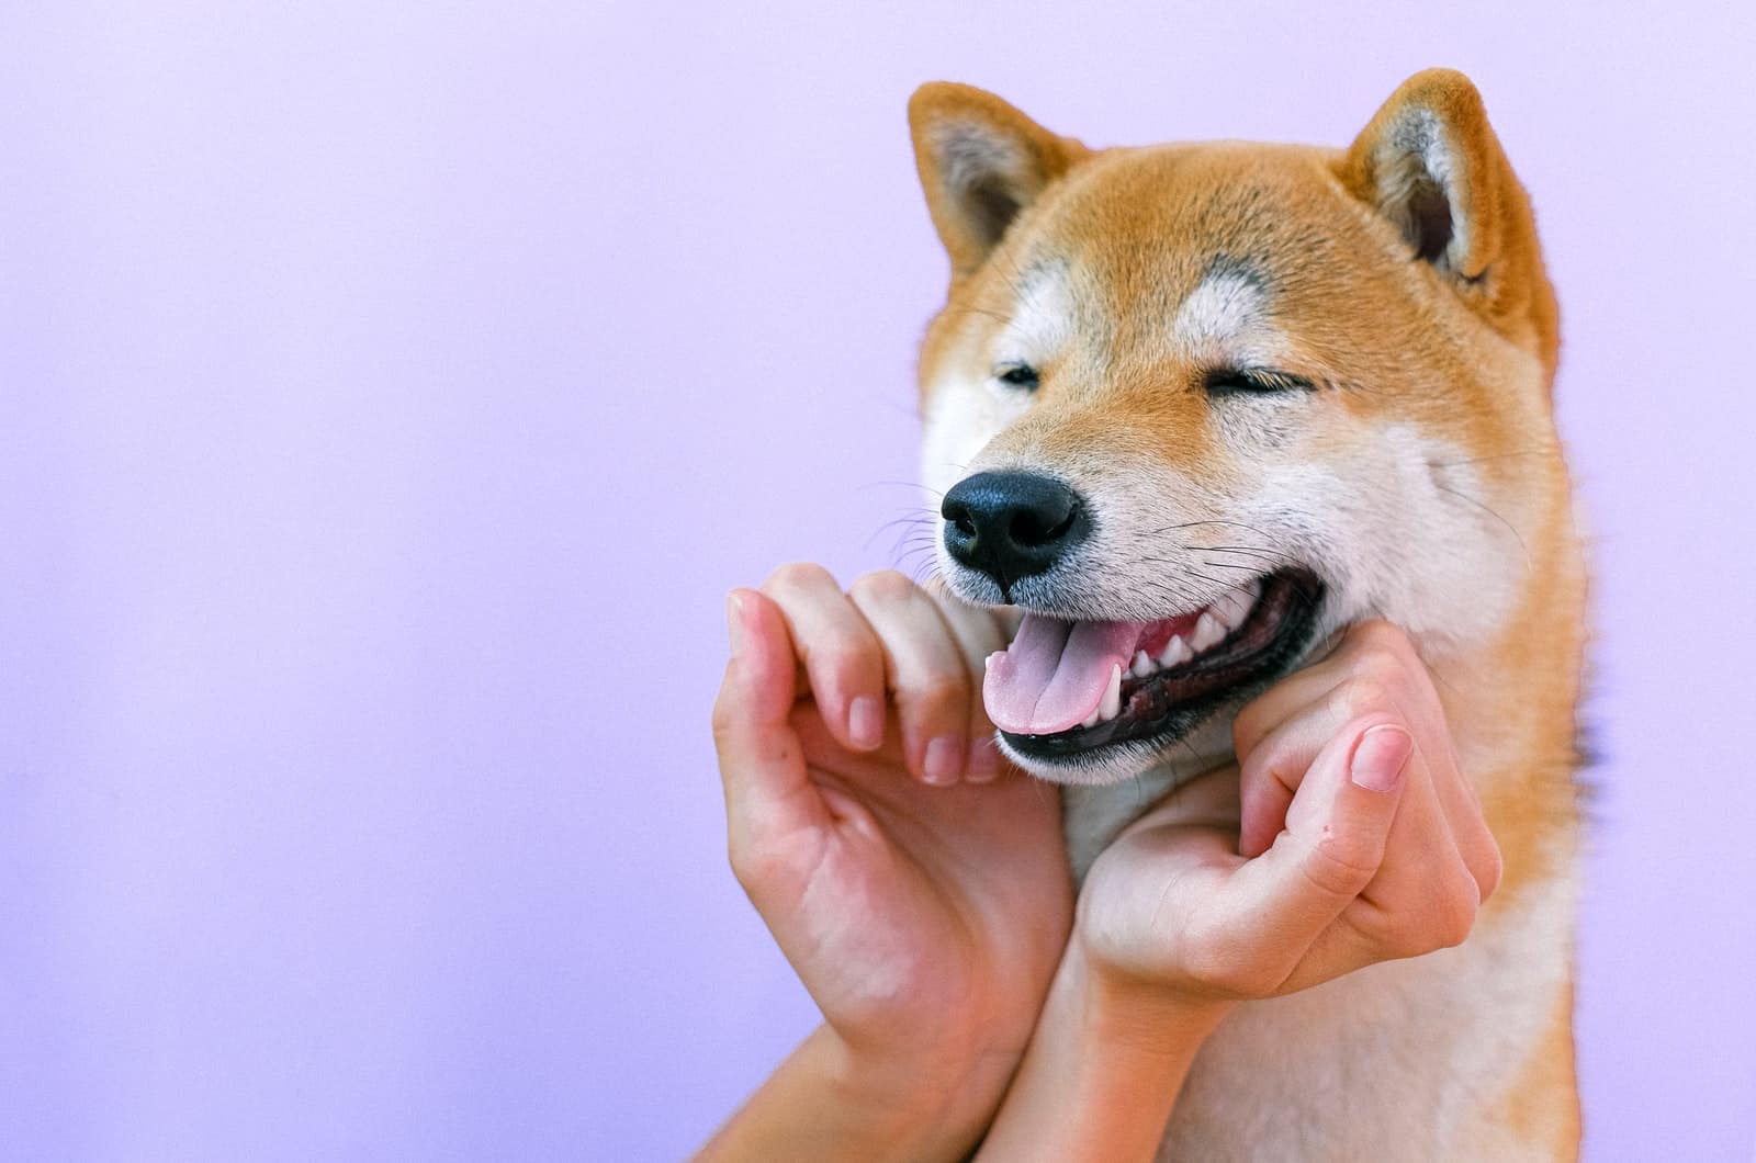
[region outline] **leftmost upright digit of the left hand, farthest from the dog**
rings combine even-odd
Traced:
[[[732,657],[713,704],[713,743],[727,845],[745,880],[741,864],[764,849],[764,838],[818,826],[827,815],[787,722],[795,694],[794,647],[780,610],[755,590],[732,590],[727,624]]]

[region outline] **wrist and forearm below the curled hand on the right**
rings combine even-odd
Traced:
[[[1224,1010],[1106,984],[1075,942],[978,1158],[1150,1159]]]

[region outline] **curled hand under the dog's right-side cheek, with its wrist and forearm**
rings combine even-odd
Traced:
[[[982,1156],[1150,1159],[1234,1005],[1470,935],[1500,850],[1401,631],[1352,627],[1233,740],[1092,864]]]

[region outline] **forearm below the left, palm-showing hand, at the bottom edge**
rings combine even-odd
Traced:
[[[818,1026],[697,1158],[959,1159],[992,1117],[1010,1070],[862,1061]]]

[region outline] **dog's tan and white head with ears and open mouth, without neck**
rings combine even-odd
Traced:
[[[1552,455],[1554,297],[1473,86],[1349,151],[1092,153],[992,95],[910,107],[952,288],[922,350],[939,569],[1024,611],[1008,754],[1062,782],[1220,754],[1333,631],[1491,636]]]

